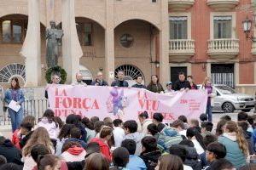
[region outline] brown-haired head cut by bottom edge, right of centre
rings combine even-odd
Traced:
[[[183,161],[178,156],[165,155],[160,157],[160,170],[183,170]]]

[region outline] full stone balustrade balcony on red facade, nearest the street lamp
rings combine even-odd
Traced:
[[[214,39],[208,41],[208,55],[210,55],[212,59],[234,59],[238,54],[238,39]]]

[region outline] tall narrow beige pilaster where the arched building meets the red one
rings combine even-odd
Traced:
[[[165,83],[170,80],[169,68],[169,15],[168,15],[168,0],[160,1],[160,82]]]

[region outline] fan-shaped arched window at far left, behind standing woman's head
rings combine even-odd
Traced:
[[[6,65],[3,69],[0,70],[0,82],[8,83],[11,77],[18,76],[26,81],[26,72],[25,65],[21,65],[19,63],[13,63],[10,65]]]

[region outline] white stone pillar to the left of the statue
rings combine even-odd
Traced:
[[[25,86],[38,87],[41,83],[40,1],[27,0],[27,3],[28,25],[20,55],[26,58]]]

